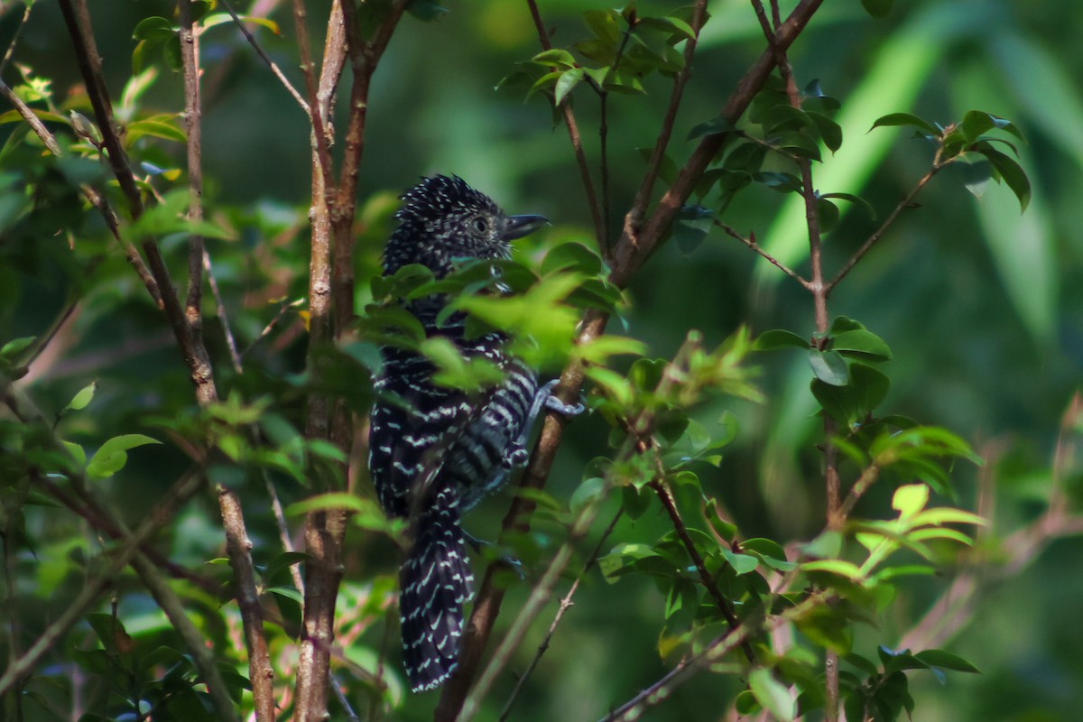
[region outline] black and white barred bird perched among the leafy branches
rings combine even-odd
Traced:
[[[458,178],[434,175],[403,195],[400,225],[383,253],[384,275],[410,263],[438,278],[461,259],[507,259],[510,241],[546,223],[540,215],[506,215]],[[403,658],[410,687],[442,684],[458,664],[462,605],[473,596],[461,515],[526,461],[531,426],[543,407],[569,407],[539,388],[535,372],[492,332],[467,339],[465,317],[438,315],[446,299],[407,304],[431,338],[453,341],[467,357],[484,357],[506,373],[496,386],[468,395],[433,382],[422,355],[382,350],[369,432],[369,469],[387,514],[410,521],[413,548],[400,569]]]

